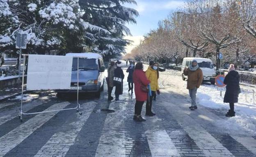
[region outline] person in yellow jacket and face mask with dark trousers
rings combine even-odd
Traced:
[[[146,70],[146,77],[150,81],[151,86],[151,96],[146,102],[146,115],[154,116],[155,113],[152,112],[152,100],[153,95],[155,92],[160,94],[159,86],[158,86],[158,78],[159,78],[159,71],[158,71],[158,63],[154,63],[153,65],[149,66],[148,70]]]

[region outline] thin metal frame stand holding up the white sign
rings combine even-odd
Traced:
[[[26,59],[26,56],[28,54],[22,54],[24,56],[24,60]],[[84,57],[73,57],[73,58],[78,58],[78,71],[79,71],[79,58],[84,58]],[[52,111],[42,111],[42,112],[34,112],[34,113],[23,113],[22,111],[22,106],[23,106],[23,88],[24,88],[24,66],[23,66],[23,75],[22,75],[22,88],[21,88],[21,108],[19,112],[19,118],[21,119],[22,122],[22,115],[32,115],[32,114],[38,114],[38,113],[48,113],[48,112],[55,112],[55,111],[65,111],[65,110],[76,110],[79,112],[80,115],[82,115],[82,112],[80,111],[80,104],[78,103],[78,91],[79,91],[79,73],[77,73],[77,105],[74,108],[65,108],[65,109],[60,109],[60,110],[52,110]]]

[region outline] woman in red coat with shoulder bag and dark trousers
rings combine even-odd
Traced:
[[[147,86],[150,81],[146,78],[146,74],[143,71],[142,62],[138,62],[135,66],[135,70],[133,72],[133,82],[134,82],[134,91],[136,96],[136,104],[135,104],[135,114],[133,119],[137,122],[144,122],[146,119],[143,119],[141,116],[142,106],[144,102],[148,98],[148,93],[142,91],[141,87]]]

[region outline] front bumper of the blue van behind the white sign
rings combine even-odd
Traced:
[[[77,86],[71,86],[71,87],[77,87]],[[79,86],[79,93],[89,93],[89,92],[98,92],[101,88],[100,85],[97,84],[86,84],[85,86]],[[62,89],[62,90],[56,90],[59,93],[77,93],[77,89]]]

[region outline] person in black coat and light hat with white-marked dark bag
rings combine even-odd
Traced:
[[[117,68],[114,70],[114,86],[116,86],[116,91],[115,91],[115,101],[116,102],[121,102],[119,100],[119,95],[123,94],[123,79],[124,79],[124,74],[123,70],[121,69],[121,62],[117,61]]]

